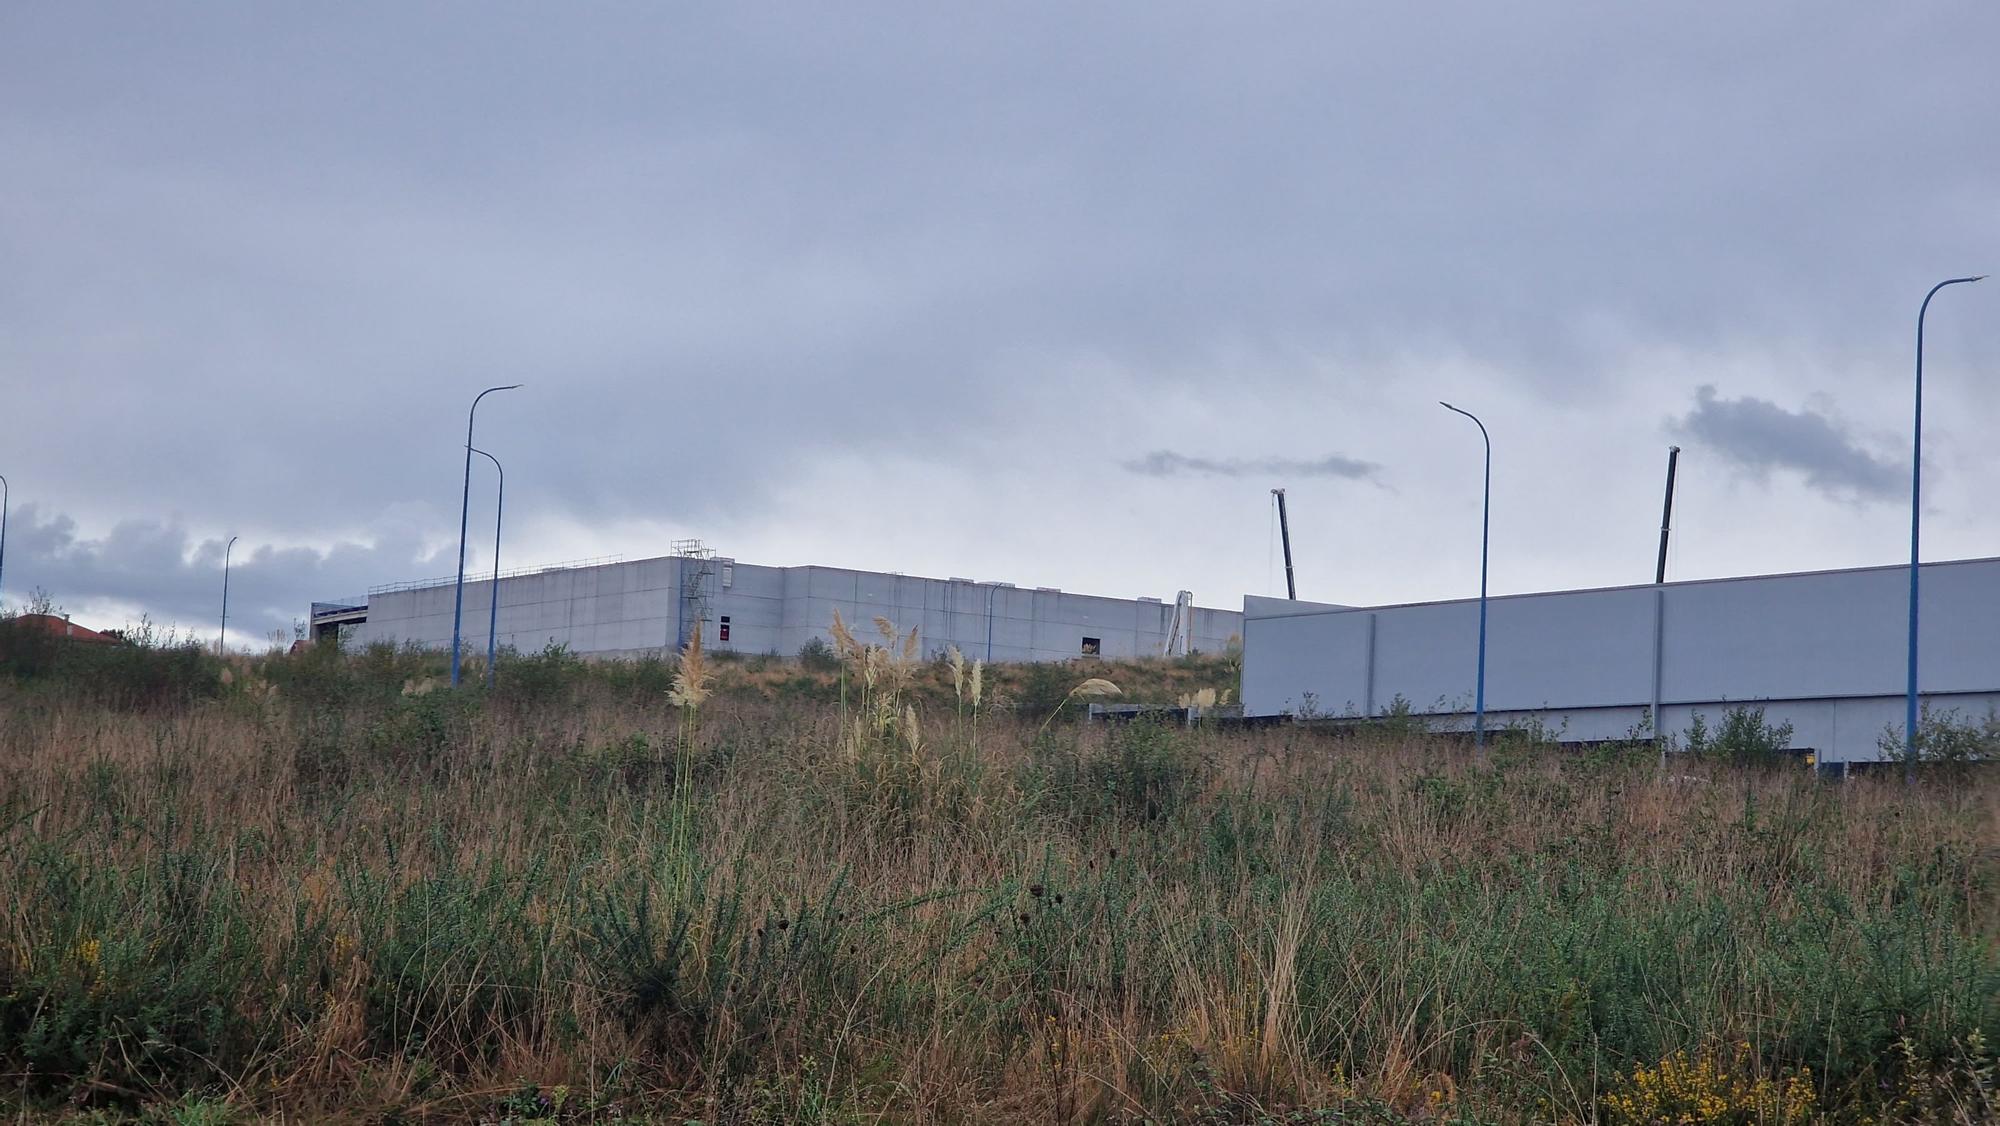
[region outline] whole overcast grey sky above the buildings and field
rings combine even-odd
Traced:
[[[1204,606],[1888,564],[2000,4],[0,6],[4,594],[664,554]],[[2000,554],[2000,280],[1926,348]],[[492,474],[474,466],[472,562]],[[240,632],[240,634],[238,634]]]

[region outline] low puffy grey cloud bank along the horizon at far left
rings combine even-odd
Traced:
[[[82,538],[68,516],[22,504],[8,520],[6,596],[16,608],[36,590],[70,608],[136,604],[162,626],[210,632],[222,612],[224,546],[158,520],[124,520],[102,538]],[[414,528],[392,528],[374,544],[326,550],[238,540],[230,556],[230,638],[248,644],[270,630],[288,632],[314,600],[360,596],[388,580],[428,578],[452,566],[452,554],[426,552]],[[118,628],[126,622],[84,624]]]

